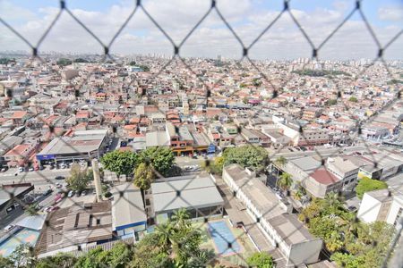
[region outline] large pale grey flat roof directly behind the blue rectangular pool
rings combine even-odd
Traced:
[[[167,180],[151,184],[154,212],[162,213],[179,208],[203,208],[224,205],[215,183],[210,177]]]

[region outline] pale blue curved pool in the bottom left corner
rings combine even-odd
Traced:
[[[20,244],[30,243],[31,246],[35,246],[39,238],[38,230],[30,230],[22,228],[14,232],[10,238],[0,243],[0,255],[4,257],[11,255],[16,247]]]

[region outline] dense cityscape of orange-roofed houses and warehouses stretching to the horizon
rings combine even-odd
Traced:
[[[381,264],[403,209],[401,62],[112,59],[2,57],[4,266]],[[193,251],[150,250],[167,226],[200,230]]]

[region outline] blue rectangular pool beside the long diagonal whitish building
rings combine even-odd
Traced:
[[[241,247],[228,228],[227,222],[209,222],[208,226],[211,239],[213,239],[219,255],[233,255],[241,252]],[[231,247],[228,247],[228,243],[231,243]]]

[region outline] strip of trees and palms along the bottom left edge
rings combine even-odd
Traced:
[[[28,244],[22,244],[7,258],[0,255],[0,267],[206,267],[215,254],[200,248],[201,241],[201,230],[193,226],[189,214],[182,209],[134,245],[117,242],[109,250],[96,247],[79,256],[59,253],[39,259]]]

